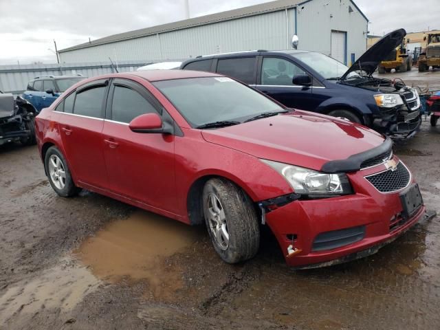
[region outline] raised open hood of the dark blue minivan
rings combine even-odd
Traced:
[[[382,36],[377,43],[358,58],[358,61],[355,61],[355,63],[351,65],[341,78],[344,79],[350,72],[360,69],[366,72],[366,74],[373,74],[379,63],[381,63],[395,47],[401,44],[405,36],[406,31],[404,29],[395,30]]]

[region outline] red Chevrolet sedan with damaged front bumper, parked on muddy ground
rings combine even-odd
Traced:
[[[376,252],[425,211],[389,139],[218,74],[83,80],[41,111],[36,136],[58,195],[205,222],[227,263],[256,254],[262,223],[289,265],[319,267]]]

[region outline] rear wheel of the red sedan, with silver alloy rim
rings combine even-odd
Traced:
[[[58,195],[61,197],[78,195],[80,188],[75,186],[65,157],[56,146],[47,149],[44,165],[47,179]]]

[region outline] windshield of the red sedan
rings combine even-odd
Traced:
[[[153,83],[192,127],[243,122],[261,113],[285,111],[254,89],[226,77],[187,78]]]

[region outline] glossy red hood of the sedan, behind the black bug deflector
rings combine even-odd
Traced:
[[[207,142],[315,170],[384,142],[382,135],[364,126],[308,111],[203,130],[201,134]]]

